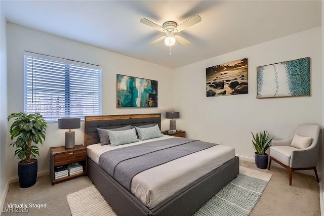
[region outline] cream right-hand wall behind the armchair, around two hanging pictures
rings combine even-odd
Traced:
[[[220,41],[221,42],[221,41]],[[303,57],[311,59],[311,97],[256,99],[256,67]],[[206,97],[206,68],[248,58],[249,94]],[[177,129],[188,138],[235,147],[254,157],[251,131],[287,138],[297,124],[322,124],[321,28],[278,38],[175,69]]]

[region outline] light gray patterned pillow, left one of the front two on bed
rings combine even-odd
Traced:
[[[138,141],[135,128],[126,131],[110,131],[108,129],[107,132],[111,146],[135,143]]]

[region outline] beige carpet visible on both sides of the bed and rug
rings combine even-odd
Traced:
[[[263,191],[250,216],[319,216],[319,184],[314,176],[293,174],[293,184],[289,186],[287,169],[272,166],[259,169],[255,162],[239,160],[239,165],[272,174],[271,181]],[[320,180],[322,181],[322,180]],[[3,207],[8,204],[33,203],[47,204],[46,208],[29,208],[28,213],[2,212],[2,216],[44,216],[71,215],[66,200],[68,194],[92,186],[88,177],[79,177],[51,185],[50,175],[37,177],[36,184],[30,188],[20,188],[19,183],[11,183]]]

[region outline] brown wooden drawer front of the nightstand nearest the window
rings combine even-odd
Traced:
[[[87,151],[80,150],[74,152],[66,152],[62,154],[54,155],[54,166],[60,166],[68,163],[73,163],[75,161],[86,160]]]

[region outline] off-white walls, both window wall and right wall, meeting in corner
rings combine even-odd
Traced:
[[[162,113],[164,117],[168,110],[180,111],[177,129],[185,130],[188,138],[222,141],[224,145],[235,147],[236,154],[245,157],[254,156],[250,131],[266,130],[277,138],[286,138],[297,124],[322,125],[324,122],[320,27],[170,69],[18,25],[8,23],[7,26],[9,114],[23,111],[23,51],[26,50],[101,65],[103,115]],[[206,67],[246,57],[249,94],[207,98]],[[303,57],[311,58],[311,97],[256,99],[257,66]],[[117,73],[158,80],[158,108],[117,109]],[[173,77],[173,85],[170,77]],[[0,83],[3,83],[2,79]],[[168,119],[163,118],[161,123],[162,129],[169,127]],[[83,144],[83,129],[82,124],[82,128],[75,130],[76,143]],[[6,131],[8,134],[8,126]],[[64,132],[55,123],[48,125],[45,145],[40,146],[38,171],[49,169],[49,148],[64,145]],[[17,177],[18,159],[12,157],[13,152],[13,148],[6,151],[11,178]],[[3,165],[1,168],[3,170]]]

